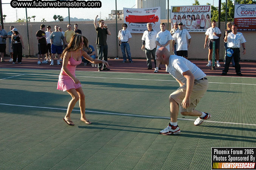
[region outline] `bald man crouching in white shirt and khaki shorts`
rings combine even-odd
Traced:
[[[180,56],[170,56],[165,47],[159,48],[156,56],[158,62],[168,66],[169,74],[180,84],[180,87],[169,97],[171,121],[167,128],[160,131],[160,134],[180,133],[180,128],[177,125],[179,106],[183,116],[198,116],[194,125],[200,125],[209,119],[211,114],[195,110],[208,88],[206,74],[189,60]]]

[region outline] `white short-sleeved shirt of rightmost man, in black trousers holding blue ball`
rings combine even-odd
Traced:
[[[246,40],[241,32],[236,32],[236,35],[233,32],[228,33],[227,37],[227,46],[228,48],[240,48],[240,43],[245,43]]]

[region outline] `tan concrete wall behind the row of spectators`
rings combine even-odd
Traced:
[[[161,22],[167,22],[166,20],[161,20]],[[93,25],[93,21],[88,22],[71,22],[72,29],[74,23],[78,23],[79,29],[82,31],[82,35],[87,37],[89,40],[90,45],[93,45],[96,49],[96,31]],[[116,25],[115,21],[108,20],[105,21],[107,23],[109,30],[111,32],[111,36],[107,36],[107,44],[108,44],[108,57],[115,58],[116,57]],[[22,23],[23,24],[23,23]],[[38,47],[37,47],[37,39],[36,39],[36,32],[40,29],[40,22],[30,22],[28,25],[28,32],[29,32],[29,44],[30,44],[30,54],[33,56],[37,55]],[[54,25],[59,25],[63,31],[67,30],[67,22],[44,22],[44,25],[50,25],[52,31],[54,31]],[[9,26],[14,25],[15,28],[18,29],[19,33],[23,36],[23,41],[25,44],[25,49],[23,49],[23,54],[28,55],[28,36],[27,36],[27,26],[26,23],[23,25],[17,25],[17,23],[5,23],[5,30],[9,31]],[[121,29],[122,22],[118,21],[118,31]],[[167,25],[167,23],[166,23]],[[222,36],[225,31],[225,22],[221,23],[221,32]],[[245,43],[247,54],[242,55],[241,53],[241,60],[256,60],[255,52],[254,52],[254,43],[256,39],[256,32],[242,32],[247,42]],[[141,58],[146,59],[145,53],[141,50],[141,37],[143,34],[132,34],[132,39],[130,40],[130,49],[132,58]],[[198,59],[198,60],[207,60],[208,59],[208,49],[203,48],[205,42],[205,33],[203,32],[191,32],[191,46],[188,49],[188,58],[189,59]],[[6,52],[9,54],[8,51],[9,44],[6,45]],[[172,45],[170,45],[170,50],[172,50]],[[242,46],[240,48],[242,51]],[[224,49],[224,42],[223,38],[220,37],[220,59],[224,58],[225,49]],[[118,46],[118,57],[122,58],[121,49]]]

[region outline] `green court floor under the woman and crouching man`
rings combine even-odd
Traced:
[[[77,72],[86,96],[87,118],[93,124],[86,125],[79,121],[79,105],[76,104],[71,114],[75,126],[69,127],[62,120],[65,110],[53,109],[66,109],[71,99],[66,92],[56,90],[59,71],[47,70],[42,74],[38,70],[0,69],[0,72],[3,72],[3,77],[13,76],[8,73],[25,74],[0,80],[0,90],[4,88],[2,94],[5,96],[5,103],[13,104],[11,96],[15,95],[16,105],[21,105],[1,105],[0,118],[2,117],[7,125],[0,128],[0,134],[8,133],[6,138],[13,142],[13,145],[6,145],[3,149],[9,151],[9,148],[14,149],[13,146],[24,141],[27,144],[32,143],[27,150],[26,146],[22,146],[22,152],[18,153],[35,154],[42,150],[41,154],[45,158],[37,160],[45,160],[48,168],[58,169],[54,166],[62,159],[73,158],[84,161],[77,169],[129,169],[129,165],[134,165],[134,169],[141,170],[195,167],[205,170],[210,168],[211,147],[256,147],[256,120],[251,114],[256,109],[256,79],[253,78],[208,76],[209,88],[200,100],[197,110],[211,113],[211,122],[204,122],[196,127],[193,121],[185,120],[195,117],[178,114],[178,125],[182,132],[176,136],[163,136],[158,132],[169,122],[168,97],[178,88],[178,83],[170,75]],[[47,91],[42,90],[45,87],[48,87]],[[42,100],[40,104],[38,96]],[[32,108],[24,107],[26,105]],[[161,116],[167,119],[124,114]],[[35,145],[32,138],[32,141],[29,141],[30,136],[46,139]],[[37,139],[34,141],[37,142]],[[39,147],[40,145],[42,146]],[[43,145],[48,146],[45,151]],[[65,151],[65,148],[70,149],[70,152]],[[13,159],[19,155],[16,154],[11,153],[9,157]],[[178,161],[175,161],[174,155]],[[126,166],[117,163],[122,157],[127,158],[127,163],[124,161]],[[50,162],[48,159],[55,161]],[[147,164],[143,162],[144,159],[150,162]],[[37,160],[31,165],[37,165],[40,162]],[[101,160],[103,163],[99,164]],[[206,163],[201,164],[200,160]],[[6,158],[5,163],[8,161]],[[159,161],[163,164],[158,164],[158,167],[151,164],[157,164]]]

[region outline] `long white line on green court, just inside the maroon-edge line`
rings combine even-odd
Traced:
[[[18,74],[18,73],[6,73],[6,74]],[[26,73],[22,75],[35,75],[35,76],[59,76],[59,74],[50,75],[50,74],[32,74]],[[16,76],[13,76],[16,77]],[[87,77],[87,78],[100,78],[100,79],[125,79],[125,80],[152,80],[152,81],[166,81],[166,82],[177,82],[176,80],[157,80],[157,79],[131,79],[131,78],[116,78],[116,77],[93,77],[93,76],[76,76],[76,77]],[[9,77],[11,78],[11,77]],[[249,78],[249,77],[247,77]],[[0,79],[3,80],[3,79]],[[256,84],[246,84],[246,83],[222,83],[222,82],[208,82],[216,84],[237,84],[237,85],[256,85]]]

